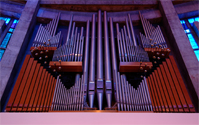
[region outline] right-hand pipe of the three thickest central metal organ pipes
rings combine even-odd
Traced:
[[[108,38],[108,23],[106,11],[104,11],[104,64],[105,64],[105,87],[106,87],[106,99],[108,108],[111,108],[112,101],[112,82],[111,82],[111,64],[110,64],[110,52],[109,52],[109,38]]]

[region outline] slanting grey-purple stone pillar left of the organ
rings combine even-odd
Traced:
[[[0,99],[5,103],[9,90],[14,84],[14,77],[21,61],[23,61],[24,50],[29,43],[29,36],[36,22],[39,9],[39,0],[27,0],[21,14],[17,27],[9,41],[7,49],[0,62]],[[4,96],[5,95],[5,96]],[[2,97],[3,96],[3,97]],[[3,106],[2,104],[1,106]],[[2,107],[3,108],[3,107]]]

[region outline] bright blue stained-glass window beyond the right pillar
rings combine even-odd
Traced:
[[[198,21],[199,22],[199,17],[195,17],[195,18],[190,18],[188,19],[187,23],[189,23],[191,26],[193,26],[193,22]],[[181,20],[180,23],[182,24],[185,33],[187,34],[187,37],[189,38],[191,47],[194,50],[194,53],[199,61],[199,47],[198,44],[196,42],[196,40],[193,37],[193,34],[191,33],[190,29],[188,28],[187,24],[186,24],[186,20]]]

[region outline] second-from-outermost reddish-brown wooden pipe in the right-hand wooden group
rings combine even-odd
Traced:
[[[181,108],[184,109],[184,111],[189,112],[189,109],[188,109],[188,107],[187,107],[185,98],[184,98],[184,96],[183,96],[183,92],[182,92],[182,90],[181,90],[181,88],[180,88],[180,86],[179,86],[179,83],[178,83],[176,74],[175,74],[175,72],[174,72],[174,70],[173,70],[173,67],[172,67],[172,65],[171,65],[171,62],[170,62],[169,59],[166,59],[166,62],[167,62],[167,66],[168,66],[168,68],[169,68],[169,71],[170,71],[170,73],[171,73],[171,76],[172,76],[172,78],[173,78],[173,81],[174,81],[174,83],[175,83],[174,85],[175,85],[175,87],[176,87],[176,90],[177,90],[178,96],[179,96],[179,98],[180,98],[181,104],[184,106],[184,107],[181,107]]]

